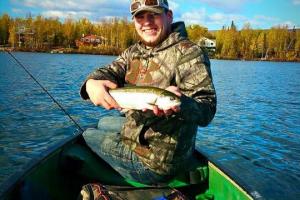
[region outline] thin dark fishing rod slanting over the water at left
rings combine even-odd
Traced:
[[[83,132],[84,130],[80,127],[80,125],[73,119],[73,117],[60,105],[60,103],[48,92],[48,90],[30,73],[30,71],[8,50],[5,50],[16,62],[22,67],[25,72],[38,84],[38,86],[46,92],[46,94],[52,99],[52,101],[64,112],[65,115],[69,117],[69,119],[77,126],[77,128]]]

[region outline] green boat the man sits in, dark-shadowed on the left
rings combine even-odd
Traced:
[[[188,177],[178,175],[168,183],[170,187],[197,200],[256,199],[245,185],[242,187],[203,154],[197,152],[197,157],[200,181],[190,184]],[[76,199],[83,185],[94,182],[147,189],[141,183],[122,178],[77,135],[44,152],[3,183],[0,199]]]

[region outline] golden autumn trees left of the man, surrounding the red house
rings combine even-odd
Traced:
[[[98,35],[106,38],[97,47],[75,49],[75,41],[83,35]],[[92,23],[83,18],[59,18],[27,16],[11,18],[4,14],[0,17],[0,45],[18,50],[49,51],[64,48],[72,52],[118,54],[136,41],[134,26],[126,18],[103,19]]]

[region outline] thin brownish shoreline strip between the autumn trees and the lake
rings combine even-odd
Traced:
[[[84,51],[79,51],[78,49],[75,48],[54,48],[54,49],[24,49],[24,48],[12,48],[12,47],[0,47],[0,52],[4,51],[13,51],[13,52],[31,52],[31,53],[51,53],[51,54],[86,54],[86,55],[103,55],[103,56],[118,56],[119,53],[114,51],[114,53],[109,52],[99,52],[99,51],[89,51],[89,52],[84,52]],[[232,61],[257,61],[257,62],[300,62],[300,58],[296,58],[293,60],[286,60],[286,59],[279,59],[279,58],[270,58],[270,59],[244,59],[244,58],[222,58],[222,57],[214,57],[210,56],[210,59],[214,60],[232,60]]]

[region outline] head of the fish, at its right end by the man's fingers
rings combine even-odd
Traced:
[[[155,104],[159,109],[168,110],[174,106],[180,106],[180,98],[175,94],[160,95]]]

